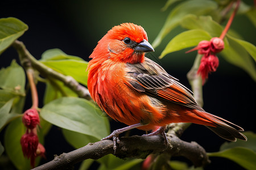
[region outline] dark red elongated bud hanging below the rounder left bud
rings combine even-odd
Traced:
[[[27,158],[30,158],[30,164],[32,167],[35,167],[35,158],[38,143],[38,136],[34,134],[32,131],[28,133],[28,130],[20,139],[23,155],[26,156]]]

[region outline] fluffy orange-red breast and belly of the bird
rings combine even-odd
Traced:
[[[164,106],[127,84],[126,64],[106,65],[90,73],[88,89],[96,103],[114,120],[127,125],[158,124],[165,116]],[[93,76],[93,77],[92,77]]]

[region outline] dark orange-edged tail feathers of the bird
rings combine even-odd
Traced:
[[[212,130],[217,135],[219,135],[221,138],[224,138],[232,142],[236,142],[237,139],[247,141],[246,136],[240,132],[243,131],[243,129],[240,126],[237,126],[232,122],[225,120],[224,118],[215,116],[207,112],[197,110],[196,115],[212,122],[214,126],[206,125],[206,127]]]

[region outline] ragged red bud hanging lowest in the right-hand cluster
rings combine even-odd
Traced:
[[[205,83],[205,79],[208,78],[208,74],[210,72],[216,71],[218,67],[218,57],[210,54],[209,56],[204,55],[201,59],[201,63],[197,74],[200,74],[203,79],[203,84]]]

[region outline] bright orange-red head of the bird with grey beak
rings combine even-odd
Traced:
[[[133,23],[123,23],[110,29],[94,49],[90,58],[115,62],[140,63],[144,53],[154,52],[144,29]]]

